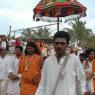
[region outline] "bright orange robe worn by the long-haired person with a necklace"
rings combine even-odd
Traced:
[[[37,54],[20,60],[18,73],[21,74],[20,95],[34,95],[40,80],[41,57]]]

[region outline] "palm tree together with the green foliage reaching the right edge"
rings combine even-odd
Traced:
[[[95,47],[95,35],[91,29],[86,28],[86,22],[80,19],[70,23],[72,28],[68,29],[71,35],[71,41],[80,42],[81,46]]]

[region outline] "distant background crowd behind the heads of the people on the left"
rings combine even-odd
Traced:
[[[20,37],[9,38],[5,35],[0,35],[0,46],[4,47],[10,54],[14,54],[16,46],[22,46],[23,51],[25,51],[26,44],[31,41],[35,42],[43,56],[47,56],[51,53],[52,46],[50,44],[48,45],[44,40],[32,38],[21,39]]]

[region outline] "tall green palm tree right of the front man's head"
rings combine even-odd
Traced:
[[[92,33],[91,29],[86,28],[86,22],[81,21],[80,19],[75,20],[75,22],[71,22],[70,25],[72,26],[69,29],[69,33],[73,35],[75,41],[80,42],[81,45],[86,43],[89,35]]]

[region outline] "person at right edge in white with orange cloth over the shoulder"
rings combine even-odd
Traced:
[[[95,95],[95,50],[87,48],[85,51],[86,60],[83,61],[83,67],[87,79],[87,91]]]

